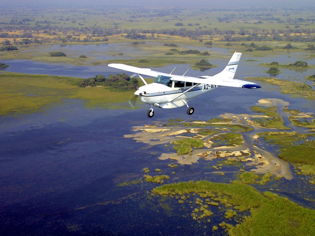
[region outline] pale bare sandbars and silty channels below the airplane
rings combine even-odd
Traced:
[[[289,103],[284,102],[280,99],[261,99],[259,104],[269,104],[273,106],[278,106],[278,109],[283,109],[288,106]],[[254,131],[242,132],[245,141],[243,144],[233,147],[220,146],[211,148],[211,139],[214,135],[202,136],[202,139],[207,139],[205,142],[205,147],[203,149],[194,149],[191,154],[177,155],[177,153],[163,153],[159,159],[166,160],[172,159],[176,160],[181,165],[191,165],[198,162],[200,158],[205,160],[213,160],[217,158],[225,158],[225,160],[230,161],[242,161],[245,166],[252,166],[252,172],[255,173],[273,173],[274,175],[281,175],[286,179],[292,179],[293,174],[290,170],[289,163],[283,159],[278,158],[273,153],[259,148],[257,132],[263,132],[264,127],[256,126],[254,122],[249,122],[249,117],[257,115],[249,114],[224,114],[221,115],[224,118],[231,118],[231,122],[216,122],[215,124],[237,124],[245,125],[254,128]],[[183,122],[187,123],[187,122]],[[189,122],[189,123],[200,123],[200,124],[214,124],[207,122]],[[196,134],[195,138],[200,138],[198,131],[201,128],[190,128],[190,127],[162,127],[165,123],[156,122],[154,125],[145,126],[135,126],[133,128],[134,133],[125,135],[126,138],[133,138],[137,142],[148,143],[150,145],[157,144],[169,144],[175,139],[188,138],[187,136],[181,136],[184,133],[190,132]],[[210,128],[211,129],[211,128]],[[224,131],[223,131],[224,132]],[[237,132],[236,132],[237,133]]]

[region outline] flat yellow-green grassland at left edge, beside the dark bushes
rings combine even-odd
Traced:
[[[131,91],[111,91],[106,87],[78,87],[82,79],[65,76],[0,73],[0,115],[42,111],[64,99],[82,99],[87,106],[115,107],[134,98]]]

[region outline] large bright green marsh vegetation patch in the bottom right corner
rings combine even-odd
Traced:
[[[315,234],[315,210],[303,208],[271,192],[260,194],[255,188],[239,181],[229,184],[208,181],[173,183],[154,188],[152,192],[186,198],[198,195],[196,205],[200,207],[192,213],[195,220],[208,219],[209,222],[212,217],[220,217],[213,214],[213,208],[209,206],[226,208],[225,219],[241,219],[235,226],[220,223],[219,226],[226,229],[229,235],[251,235],[248,232],[255,232],[255,235],[284,235],[285,232],[293,235]],[[210,199],[218,203],[217,206],[211,204]],[[250,214],[246,213],[248,210]],[[217,229],[218,226],[212,228]]]

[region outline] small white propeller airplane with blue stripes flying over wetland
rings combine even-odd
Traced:
[[[235,52],[224,70],[214,76],[189,77],[184,75],[172,75],[171,73],[161,73],[148,68],[138,68],[124,64],[108,64],[107,66],[120,70],[126,70],[138,74],[144,82],[144,86],[135,92],[140,100],[150,104],[151,108],[147,112],[149,118],[153,117],[153,107],[175,108],[186,105],[187,114],[192,115],[194,108],[188,106],[187,101],[203,93],[207,93],[221,86],[241,87],[241,88],[261,88],[256,83],[234,79],[242,53]],[[141,75],[156,77],[152,84],[147,84]]]

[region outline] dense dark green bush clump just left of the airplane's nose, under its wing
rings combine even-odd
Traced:
[[[126,73],[116,75],[109,75],[106,78],[103,75],[98,75],[93,78],[84,79],[78,84],[79,87],[95,87],[105,86],[117,90],[136,90],[138,87],[138,80],[130,78]]]

